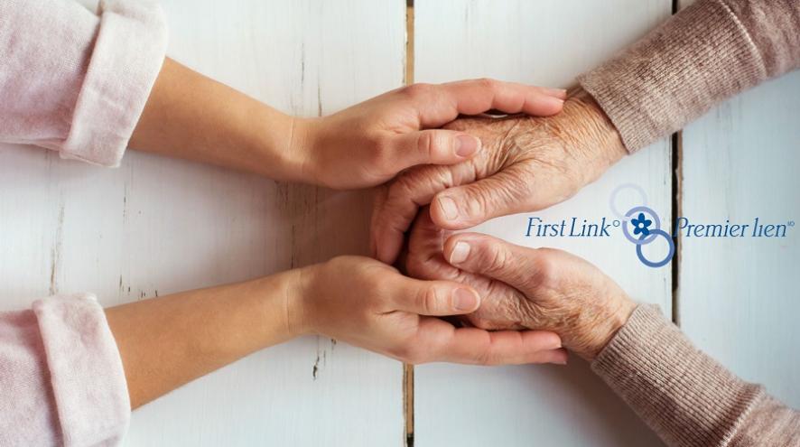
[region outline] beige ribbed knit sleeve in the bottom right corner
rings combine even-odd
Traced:
[[[591,369],[667,445],[800,445],[800,413],[696,349],[655,305],[638,306]]]

